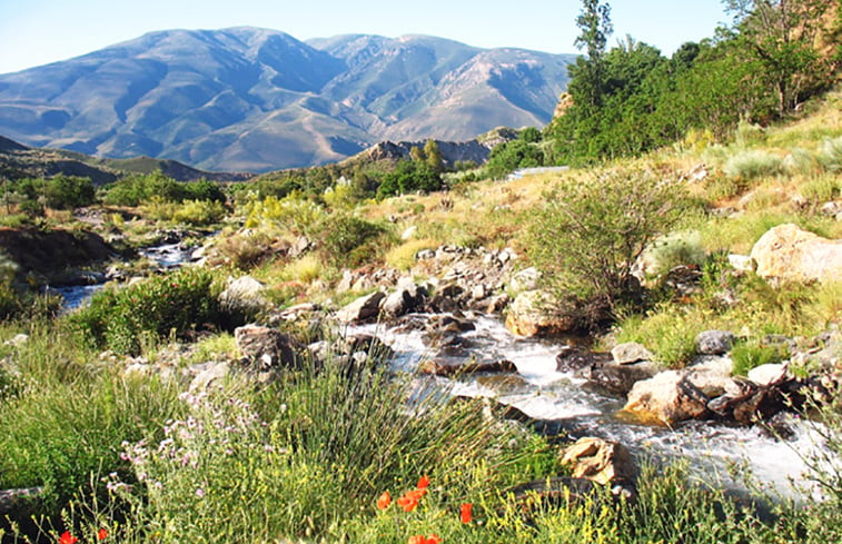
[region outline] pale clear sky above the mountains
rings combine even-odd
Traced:
[[[727,20],[721,0],[614,0],[626,34],[671,55]],[[261,27],[299,40],[346,33],[429,34],[482,48],[577,52],[576,0],[0,0],[0,73],[169,29]]]

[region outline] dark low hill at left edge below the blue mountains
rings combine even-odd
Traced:
[[[115,181],[127,174],[151,174],[160,170],[178,181],[210,179],[242,181],[250,174],[208,172],[168,159],[136,157],[100,159],[65,149],[30,148],[0,136],[0,175],[10,177],[51,177],[57,175],[90,178],[93,184]]]

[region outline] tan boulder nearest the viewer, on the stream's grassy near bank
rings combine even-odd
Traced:
[[[636,467],[628,451],[620,443],[583,437],[568,446],[562,465],[569,465],[574,478],[587,478],[597,484],[634,482]]]

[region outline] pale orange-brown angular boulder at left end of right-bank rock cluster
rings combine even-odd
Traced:
[[[666,370],[634,384],[623,412],[644,423],[672,426],[704,416],[707,400],[684,373]]]

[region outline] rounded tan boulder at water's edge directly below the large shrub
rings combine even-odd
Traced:
[[[559,300],[548,293],[527,290],[517,295],[508,308],[506,328],[518,336],[553,336],[574,330],[578,319],[559,311]]]

